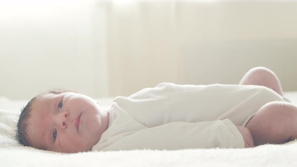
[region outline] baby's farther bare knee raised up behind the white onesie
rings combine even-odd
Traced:
[[[241,79],[239,85],[259,85],[272,89],[282,96],[282,89],[276,74],[265,67],[250,69]]]

